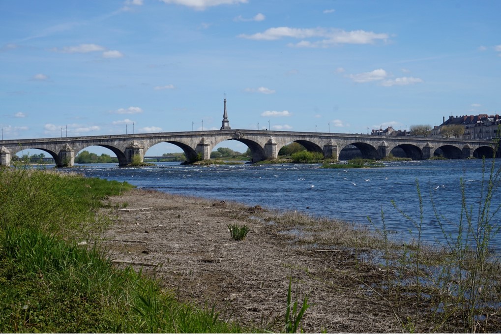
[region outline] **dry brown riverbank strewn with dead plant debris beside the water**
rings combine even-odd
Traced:
[[[361,260],[370,241],[351,225],[144,190],[108,201],[114,209],[101,213],[113,224],[101,243],[111,258],[160,264],[144,270],[182,300],[215,304],[221,319],[281,331],[292,278],[293,300],[312,304],[306,332],[400,332],[367,293],[382,273]],[[235,223],[250,228],[245,240],[231,239]]]

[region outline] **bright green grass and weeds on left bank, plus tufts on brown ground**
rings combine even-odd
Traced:
[[[142,270],[114,267],[102,249],[78,242],[98,238],[110,223],[96,216],[102,201],[132,188],[76,174],[0,168],[0,332],[249,331],[219,320],[214,307],[179,302]],[[248,229],[239,230],[243,239]],[[290,291],[288,301],[293,314],[287,304],[284,328],[296,330],[308,304],[297,309]]]

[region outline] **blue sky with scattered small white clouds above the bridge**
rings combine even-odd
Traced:
[[[499,1],[3,1],[0,125],[5,139],[219,129],[224,94],[235,129],[495,114],[499,13]]]

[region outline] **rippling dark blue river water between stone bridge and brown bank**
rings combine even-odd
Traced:
[[[127,181],[140,188],[298,210],[364,225],[369,224],[367,217],[370,217],[377,227],[382,226],[383,211],[392,235],[405,239],[409,237],[409,230],[415,229],[391,201],[419,222],[418,180],[424,206],[422,231],[429,242],[443,239],[431,199],[439,215],[443,216],[446,233],[456,231],[455,224],[461,213],[460,178],[465,181],[468,204],[474,211],[478,208],[482,185],[482,161],[478,159],[389,162],[385,168],[374,169],[335,170],[319,166],[185,166],[164,162],[148,168],[96,164],[73,170],[89,177]],[[500,204],[501,195],[495,193],[493,209]],[[499,215],[494,221],[499,222]],[[500,241],[500,237],[495,238],[497,244]]]

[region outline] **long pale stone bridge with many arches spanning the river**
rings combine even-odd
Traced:
[[[112,150],[119,165],[126,166],[132,162],[142,162],[146,151],[160,142],[179,146],[186,158],[194,161],[209,159],[212,148],[225,140],[237,140],[246,144],[252,152],[253,161],[277,158],[280,148],[292,141],[302,144],[310,151],[322,152],[325,157],[334,159],[339,158],[343,148],[353,146],[360,150],[363,157],[373,159],[383,158],[398,148],[412,159],[429,158],[437,152],[447,158],[493,155],[493,141],[490,139],[226,129],[2,140],[0,164],[9,165],[12,155],[23,149],[37,148],[51,154],[56,165],[72,166],[75,154],[88,146],[98,145]]]

